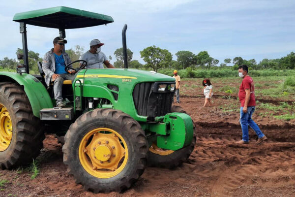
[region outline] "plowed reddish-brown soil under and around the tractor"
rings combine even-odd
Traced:
[[[241,139],[238,110],[223,112],[218,106],[236,99],[213,99],[213,107],[202,108],[204,99],[181,97],[182,106],[194,119],[197,143],[188,161],[174,170],[147,167],[126,192],[92,194],[74,182],[62,163],[61,145],[52,134],[44,140],[39,156],[40,174],[31,179],[24,170],[2,170],[0,197],[295,197],[295,125],[272,117],[253,119],[268,137],[255,145]]]

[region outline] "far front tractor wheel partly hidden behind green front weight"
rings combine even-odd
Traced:
[[[172,106],[172,112],[187,114],[186,111],[182,109],[182,107],[177,105]],[[194,135],[191,144],[177,151],[161,149],[156,145],[156,142],[152,143],[152,145],[148,149],[148,165],[153,167],[172,169],[185,162],[189,158],[195,147],[197,139],[195,130],[196,129],[194,125]]]

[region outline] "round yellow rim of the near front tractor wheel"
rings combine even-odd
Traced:
[[[127,164],[127,144],[117,131],[97,128],[89,131],[81,140],[79,160],[92,176],[111,178],[120,173]]]

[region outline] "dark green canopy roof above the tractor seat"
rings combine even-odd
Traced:
[[[58,29],[86,28],[114,22],[111,16],[64,6],[17,13],[13,21]]]

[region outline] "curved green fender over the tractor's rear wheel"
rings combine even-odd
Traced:
[[[40,117],[39,111],[43,108],[52,108],[52,100],[44,87],[44,85],[34,76],[16,72],[0,72],[0,82],[11,81],[16,82],[25,90],[34,116]]]

